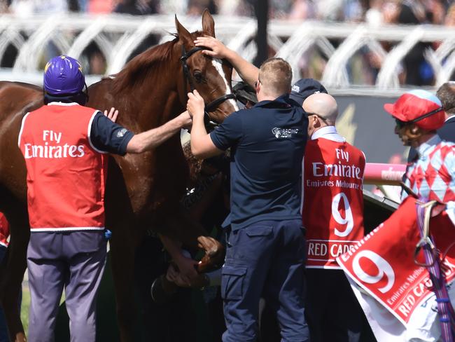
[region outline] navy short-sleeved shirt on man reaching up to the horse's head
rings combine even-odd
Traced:
[[[308,119],[288,95],[232,113],[210,133],[231,147],[233,230],[263,220],[300,218],[300,175]]]

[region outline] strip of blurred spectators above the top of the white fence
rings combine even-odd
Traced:
[[[260,0],[0,0],[0,11],[31,13],[127,13],[131,15],[200,15],[204,8],[212,14],[254,16]],[[262,1],[260,1],[262,3]],[[450,0],[269,0],[269,18],[455,25],[455,5]],[[407,7],[411,13],[402,13]]]

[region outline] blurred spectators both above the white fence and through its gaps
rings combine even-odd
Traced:
[[[201,15],[204,8],[212,14],[255,16],[255,3],[263,0],[0,0],[0,13],[55,14],[126,13],[130,15],[178,14]],[[269,18],[281,20],[323,20],[328,22],[363,22],[380,25],[445,25],[455,27],[455,4],[449,0],[269,0]],[[153,44],[153,37],[145,42]],[[337,48],[342,41],[330,41]],[[382,42],[389,51],[395,43]],[[417,43],[400,65],[400,83],[412,86],[434,86],[435,75],[424,58],[428,48],[435,50],[440,42]],[[144,45],[146,46],[146,45]],[[89,49],[90,50],[90,49]],[[91,47],[90,74],[104,74],[104,57],[97,46]],[[137,53],[141,52],[138,50]],[[275,51],[271,50],[270,55]],[[95,56],[95,57],[93,57]],[[327,57],[316,46],[300,59],[300,76],[321,79]],[[381,67],[381,56],[366,46],[358,50],[346,65],[353,85],[373,85]],[[8,67],[3,62],[1,67]],[[412,70],[412,72],[410,72]],[[409,71],[409,72],[407,72]],[[452,75],[451,79],[455,75]]]

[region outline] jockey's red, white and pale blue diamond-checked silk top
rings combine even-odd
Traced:
[[[446,203],[455,224],[455,144],[435,135],[417,151],[419,159],[409,165],[405,184],[419,197]],[[406,197],[403,191],[401,199]]]

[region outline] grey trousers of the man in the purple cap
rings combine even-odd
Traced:
[[[29,341],[53,342],[65,289],[71,342],[96,338],[96,296],[106,264],[103,231],[31,233],[27,249]]]

